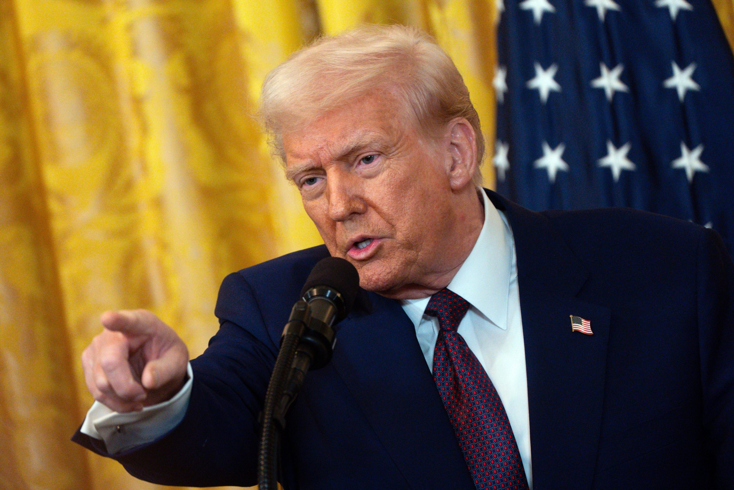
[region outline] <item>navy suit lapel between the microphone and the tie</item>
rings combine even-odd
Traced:
[[[415,327],[395,300],[341,323],[333,365],[413,489],[473,489]]]

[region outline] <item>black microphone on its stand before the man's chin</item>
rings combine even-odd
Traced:
[[[270,376],[262,417],[258,457],[260,490],[277,488],[280,431],[310,369],[324,367],[331,359],[336,335],[334,325],[344,320],[359,292],[360,277],[345,259],[327,257],[313,267],[291,310],[280,337],[280,352]]]

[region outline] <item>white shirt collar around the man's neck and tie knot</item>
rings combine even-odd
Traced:
[[[500,212],[484,190],[484,224],[474,247],[448,289],[467,300],[483,317],[507,329],[507,302],[512,267],[512,237]],[[417,327],[430,298],[403,300],[402,306]]]

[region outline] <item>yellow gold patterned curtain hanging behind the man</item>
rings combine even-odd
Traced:
[[[732,1],[714,4],[734,43]],[[252,118],[265,73],[319,32],[418,26],[491,154],[495,17],[493,0],[0,0],[0,490],[158,488],[69,442],[98,315],[150,309],[197,356],[227,273],[320,242]]]

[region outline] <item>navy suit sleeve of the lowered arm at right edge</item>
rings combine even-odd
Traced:
[[[716,488],[734,489],[734,264],[709,229],[697,261],[703,425]]]

